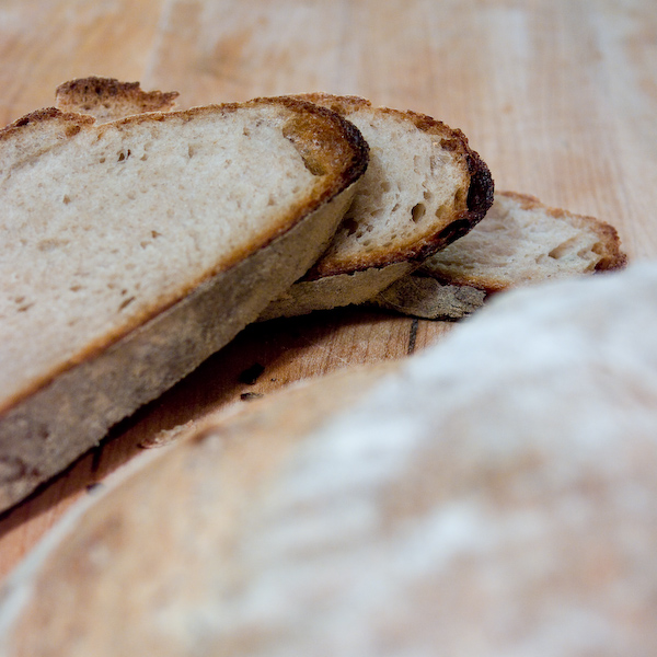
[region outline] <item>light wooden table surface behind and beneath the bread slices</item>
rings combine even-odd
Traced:
[[[321,90],[413,108],[461,128],[498,189],[598,216],[632,260],[657,255],[654,0],[0,0],[0,123],[89,74],[177,90],[180,107]],[[162,429],[454,328],[360,309],[247,328],[5,512],[0,576]]]

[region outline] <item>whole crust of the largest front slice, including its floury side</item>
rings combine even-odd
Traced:
[[[0,132],[16,158],[34,158],[44,148],[74,139],[84,129],[99,134],[135,123],[175,123],[240,107],[269,106],[293,118],[288,139],[310,140],[302,157],[330,172],[323,186],[289,208],[270,230],[262,230],[246,247],[199,279],[181,283],[173,297],[152,300],[140,315],[124,322],[76,356],[2,400],[0,410],[0,508],[32,492],[95,445],[107,428],[154,399],[254,321],[316,260],[328,243],[367,168],[367,145],[337,115],[302,101],[254,100],[185,112],[135,115],[94,126],[93,118],[47,108],[14,122]],[[297,122],[301,117],[302,125]],[[313,127],[310,117],[315,117]],[[308,120],[307,120],[308,119]],[[37,139],[46,131],[51,140]],[[341,139],[339,153],[331,151]],[[32,139],[34,135],[35,139]],[[23,143],[24,142],[24,143]],[[44,142],[47,146],[44,146]],[[337,164],[341,163],[339,168]]]

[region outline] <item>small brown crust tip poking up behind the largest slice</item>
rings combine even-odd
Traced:
[[[177,96],[177,91],[142,91],[139,82],[92,76],[60,84],[55,93],[55,106],[106,123],[145,112],[170,112]]]

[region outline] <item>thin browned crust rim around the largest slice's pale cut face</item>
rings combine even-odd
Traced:
[[[331,112],[330,110],[320,107],[319,105],[309,103],[307,101],[288,96],[258,97],[244,103],[224,103],[221,105],[206,105],[178,112],[136,114],[127,116],[116,122],[100,125],[94,125],[95,119],[92,116],[76,113],[67,113],[56,107],[48,107],[27,114],[26,116],[19,118],[13,124],[0,130],[1,140],[3,138],[9,138],[11,135],[15,134],[19,130],[24,130],[25,128],[37,126],[38,124],[43,124],[44,122],[54,122],[55,125],[59,123],[64,127],[62,136],[66,138],[74,138],[74,136],[80,131],[69,130],[67,128],[69,124],[73,126],[84,126],[88,128],[91,127],[97,130],[97,134],[100,136],[105,130],[112,129],[113,126],[120,126],[124,124],[149,123],[153,120],[173,122],[180,119],[181,117],[185,120],[191,120],[194,116],[203,116],[211,113],[229,114],[239,111],[241,107],[254,105],[283,105],[284,107],[291,110],[297,115],[308,115],[310,113],[313,116],[320,117],[324,122],[323,127],[313,128],[310,122],[303,123],[300,126],[295,126],[295,129],[301,130],[301,132],[298,135],[297,142],[299,142],[301,139],[319,140],[314,143],[315,154],[316,152],[322,151],[322,141],[320,138],[323,134],[323,143],[325,143],[325,135],[328,132],[330,126],[336,129],[336,135],[342,132],[343,142],[339,145],[339,152],[343,157],[348,157],[348,161],[345,162],[344,160],[341,160],[339,157],[333,157],[332,153],[323,152],[322,154],[322,157],[324,158],[323,164],[330,168],[331,162],[334,166],[337,165],[338,162],[341,162],[342,172],[338,175],[333,175],[332,180],[327,181],[327,184],[324,186],[323,191],[320,194],[309,195],[304,203],[300,203],[298,207],[295,208],[293,212],[289,215],[289,220],[286,222],[285,227],[281,227],[279,230],[273,230],[268,235],[264,237],[257,244],[251,245],[251,247],[245,250],[244,252],[235,251],[232,254],[232,260],[230,263],[222,267],[209,269],[201,280],[188,281],[185,286],[181,286],[180,293],[175,299],[172,299],[166,303],[159,302],[157,307],[145,311],[143,316],[135,318],[120,331],[117,331],[116,333],[108,333],[104,339],[97,341],[96,343],[91,345],[85,345],[85,347],[80,351],[80,354],[77,357],[74,357],[66,364],[61,364],[61,366],[58,369],[53,370],[48,374],[45,374],[37,383],[35,383],[30,389],[24,390],[21,394],[10,400],[0,401],[0,417],[3,414],[10,412],[12,408],[20,405],[25,399],[46,388],[64,372],[67,372],[72,368],[78,367],[84,362],[93,360],[95,357],[107,350],[110,347],[113,347],[123,339],[127,339],[130,334],[140,330],[147,322],[157,319],[158,316],[169,311],[172,307],[183,301],[189,293],[192,293],[195,289],[201,287],[203,284],[207,280],[214,278],[222,272],[228,272],[234,268],[246,256],[252,255],[256,252],[261,252],[262,250],[267,247],[277,238],[287,233],[291,228],[300,223],[304,217],[318,210],[320,207],[328,203],[332,198],[334,198],[339,193],[344,192],[350,185],[353,185],[365,173],[369,160],[369,147],[360,131],[351,123],[344,119],[335,112]],[[334,147],[336,143],[336,135],[333,135],[333,139],[331,141],[332,147]],[[292,140],[292,143],[295,143],[295,140]],[[47,149],[42,149],[42,151],[43,150]],[[303,155],[303,153],[301,154]]]

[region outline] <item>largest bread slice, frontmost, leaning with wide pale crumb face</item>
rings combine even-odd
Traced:
[[[0,132],[0,508],[252,322],[318,258],[367,166],[298,100]]]

